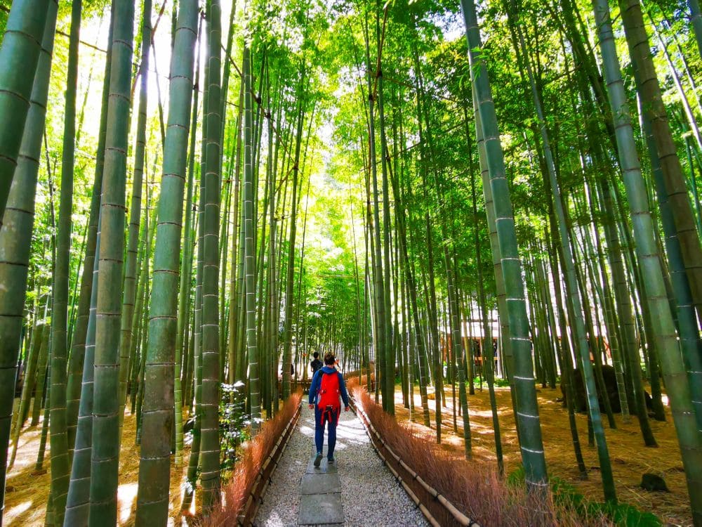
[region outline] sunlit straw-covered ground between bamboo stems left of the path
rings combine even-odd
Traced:
[[[139,447],[135,444],[136,419],[128,410],[124,414],[124,436],[119,455],[119,488],[117,490],[117,524],[133,525],[136,512],[136,494],[139,479]],[[20,435],[15,464],[7,474],[5,493],[5,526],[43,526],[46,515],[46,501],[51,486],[51,467],[49,445],[46,444],[44,457],[45,474],[32,476],[39,453],[41,440],[41,422],[36,427],[25,428]],[[12,446],[11,446],[12,448]],[[185,448],[185,467],[187,467],[190,447]],[[185,470],[180,474],[171,461],[171,517],[176,516],[176,507],[180,507]]]

